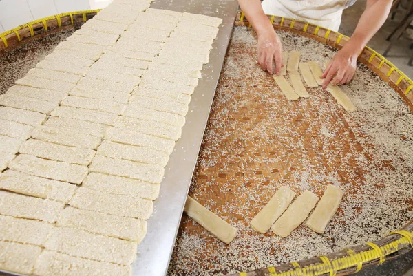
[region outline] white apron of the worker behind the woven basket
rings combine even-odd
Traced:
[[[341,14],[355,0],[264,0],[266,14],[288,17],[338,31]]]

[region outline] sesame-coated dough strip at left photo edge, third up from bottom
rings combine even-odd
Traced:
[[[54,223],[65,204],[0,191],[0,214]],[[1,251],[0,251],[1,252]]]

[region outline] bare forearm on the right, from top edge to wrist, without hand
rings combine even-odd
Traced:
[[[358,56],[387,19],[391,6],[391,0],[369,0],[344,50]]]

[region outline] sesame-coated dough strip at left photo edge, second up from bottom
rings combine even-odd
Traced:
[[[42,246],[50,231],[52,224],[38,220],[25,220],[23,218],[0,215],[0,240],[3,242],[20,242]]]

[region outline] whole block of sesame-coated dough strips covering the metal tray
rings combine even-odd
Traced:
[[[222,19],[114,0],[0,96],[0,268],[130,275]]]

